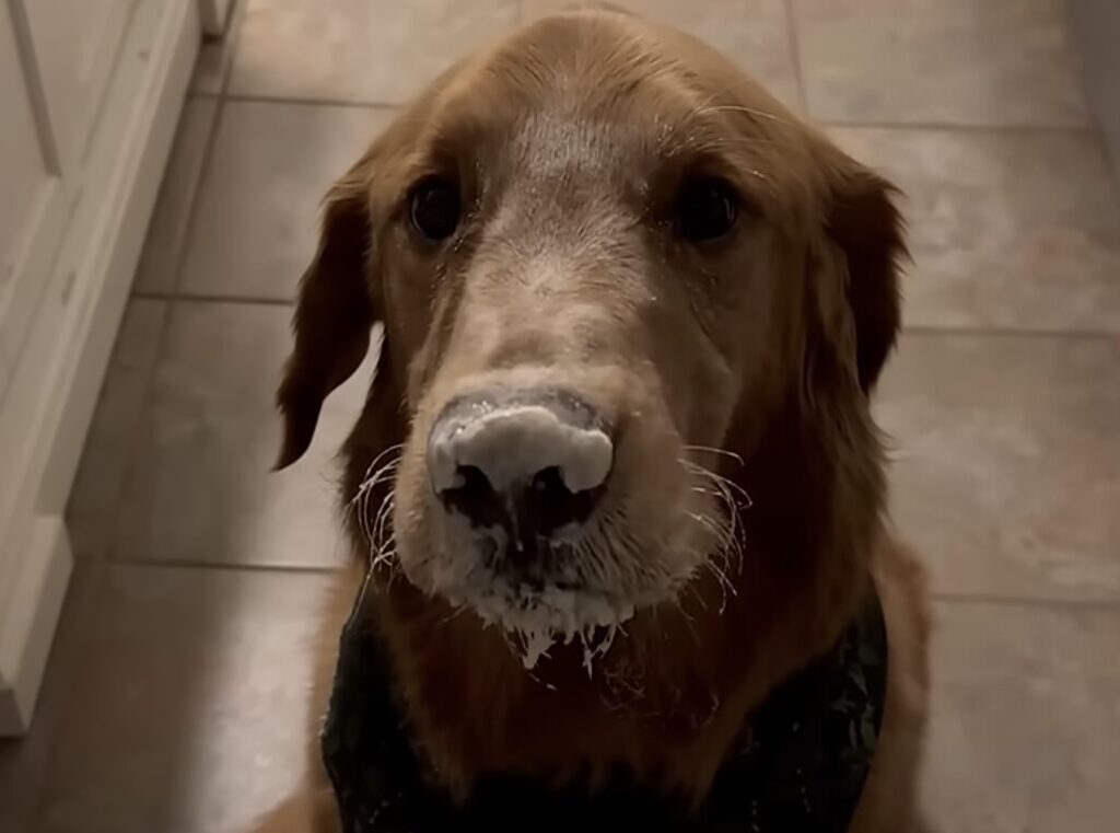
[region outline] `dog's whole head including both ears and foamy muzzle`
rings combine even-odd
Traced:
[[[610,12],[445,74],[323,233],[281,462],[382,321],[401,436],[365,480],[395,479],[386,557],[530,660],[732,574],[727,475],[820,385],[865,409],[897,326],[884,184],[724,58]]]

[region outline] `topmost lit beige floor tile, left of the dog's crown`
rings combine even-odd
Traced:
[[[400,104],[517,11],[517,0],[248,0],[230,89]]]

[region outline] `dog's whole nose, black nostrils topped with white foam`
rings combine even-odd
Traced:
[[[500,391],[450,402],[428,439],[432,490],[479,527],[504,527],[519,552],[585,521],[610,473],[599,415],[561,391]]]

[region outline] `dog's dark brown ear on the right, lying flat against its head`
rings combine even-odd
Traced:
[[[906,258],[904,226],[890,183],[830,148],[825,233],[842,256],[843,297],[850,315],[856,376],[869,394],[900,325],[898,274]],[[843,339],[841,339],[843,341]]]

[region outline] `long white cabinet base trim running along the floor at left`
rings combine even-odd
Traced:
[[[0,529],[0,737],[30,723],[72,556],[63,513],[200,41],[197,0],[139,3],[88,152],[82,205],[39,305],[12,388],[34,374],[21,498]],[[26,387],[26,386],[25,386]],[[6,406],[10,402],[6,402]]]

